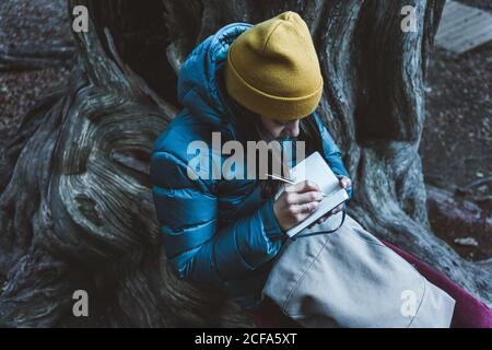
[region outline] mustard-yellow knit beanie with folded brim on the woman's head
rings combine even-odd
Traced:
[[[225,86],[236,102],[263,117],[293,120],[312,114],[323,77],[309,30],[288,11],[241,34],[227,51]]]

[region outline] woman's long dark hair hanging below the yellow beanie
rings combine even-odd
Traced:
[[[233,122],[238,131],[238,139],[244,144],[247,141],[260,141],[265,140],[267,142],[272,141],[273,138],[265,129],[261,124],[260,116],[255,112],[247,109],[233,98],[229,97],[229,105],[231,112],[233,113]],[[306,153],[311,154],[313,152],[323,151],[323,140],[319,133],[319,128],[316,120],[312,115],[300,120],[300,135],[297,140],[305,141]],[[271,162],[274,160],[270,158]],[[269,163],[269,168],[271,168],[272,163]],[[258,170],[258,166],[256,167]],[[257,174],[259,175],[259,174]],[[259,178],[257,176],[256,178]],[[274,196],[280,188],[280,182],[274,179],[260,180],[261,194],[263,198],[270,198]]]

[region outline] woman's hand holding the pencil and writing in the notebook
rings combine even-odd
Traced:
[[[309,217],[323,200],[323,194],[313,182],[285,186],[273,205],[280,229],[288,231]]]

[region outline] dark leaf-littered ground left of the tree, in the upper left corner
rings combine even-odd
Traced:
[[[2,0],[0,47],[71,42],[67,12],[66,0]],[[36,101],[57,86],[66,85],[69,77],[69,67],[7,72],[0,69],[0,144],[12,138],[20,120]]]

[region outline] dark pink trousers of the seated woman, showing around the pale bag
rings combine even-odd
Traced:
[[[431,283],[448,293],[455,301],[452,328],[492,328],[492,311],[482,302],[475,299],[465,289],[449,280],[446,276],[433,269],[417,257],[408,254],[395,245],[380,240],[403,259],[412,264],[419,272]],[[268,303],[259,312],[253,314],[259,327],[265,328],[301,328],[302,326],[282,314],[280,308]]]

